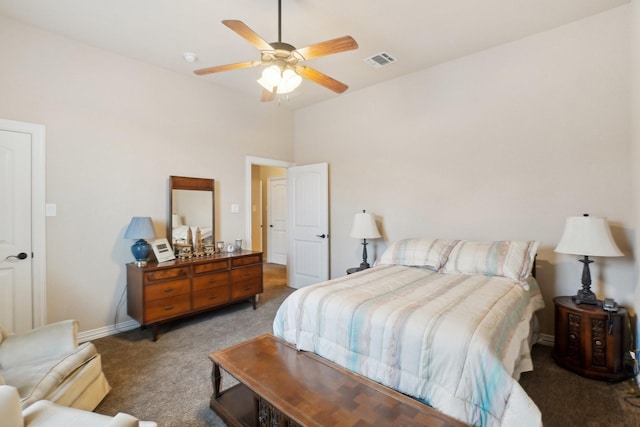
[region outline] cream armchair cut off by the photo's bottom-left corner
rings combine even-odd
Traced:
[[[156,427],[151,421],[118,413],[115,417],[56,405],[48,400],[40,400],[22,409],[20,396],[15,387],[0,385],[0,420],[2,427]]]

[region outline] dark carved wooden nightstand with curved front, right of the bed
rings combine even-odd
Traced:
[[[607,312],[600,305],[576,304],[572,297],[556,297],[553,303],[556,363],[587,378],[626,378],[627,310]]]

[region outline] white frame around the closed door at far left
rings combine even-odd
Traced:
[[[47,319],[46,293],[46,127],[41,124],[0,119],[0,129],[31,135],[31,280],[33,327]]]

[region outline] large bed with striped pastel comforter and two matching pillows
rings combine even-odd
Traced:
[[[405,239],[374,267],[292,293],[274,334],[475,426],[540,426],[536,241]]]

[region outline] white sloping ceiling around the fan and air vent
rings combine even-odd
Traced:
[[[305,47],[350,35],[359,49],[305,63],[358,90],[629,3],[629,0],[282,0],[282,41]],[[259,60],[222,25],[243,21],[277,41],[277,0],[0,0],[0,14],[72,39],[236,90],[259,102],[260,69],[198,77],[193,70]],[[398,62],[373,69],[388,52]],[[184,52],[198,56],[184,61]],[[281,106],[341,96],[305,80]],[[344,95],[342,95],[344,96]]]

